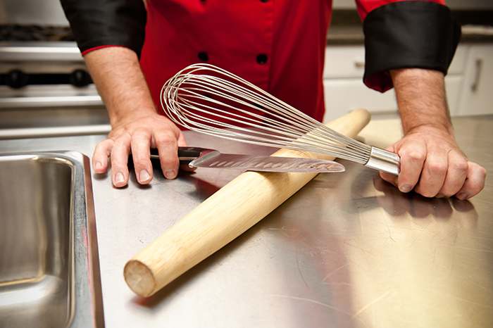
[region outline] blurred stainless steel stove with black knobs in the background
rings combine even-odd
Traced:
[[[109,131],[69,27],[0,25],[0,139]]]

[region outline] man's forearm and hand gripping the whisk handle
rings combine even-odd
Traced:
[[[486,170],[470,162],[454,139],[444,75],[435,70],[391,71],[404,138],[387,148],[401,156],[401,173],[380,173],[402,192],[468,199],[485,187]]]

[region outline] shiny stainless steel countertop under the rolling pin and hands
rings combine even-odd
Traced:
[[[493,171],[493,115],[454,118],[458,144]],[[398,120],[360,134],[387,146]],[[193,146],[271,153],[186,132]],[[0,140],[0,152],[92,155],[102,135]],[[400,194],[342,160],[151,298],[123,266],[238,172],[199,169],[148,186],[92,175],[106,327],[493,327],[493,183],[470,201]],[[226,219],[227,220],[227,219]]]

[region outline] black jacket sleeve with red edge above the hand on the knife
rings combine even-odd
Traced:
[[[125,46],[140,56],[146,9],[142,0],[61,0],[82,55],[105,46]]]

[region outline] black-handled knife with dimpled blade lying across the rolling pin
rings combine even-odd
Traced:
[[[151,159],[159,158],[157,149],[151,149]],[[214,149],[179,147],[181,165],[190,168],[224,168],[261,172],[344,172],[344,165],[332,160],[253,156],[220,153]]]

